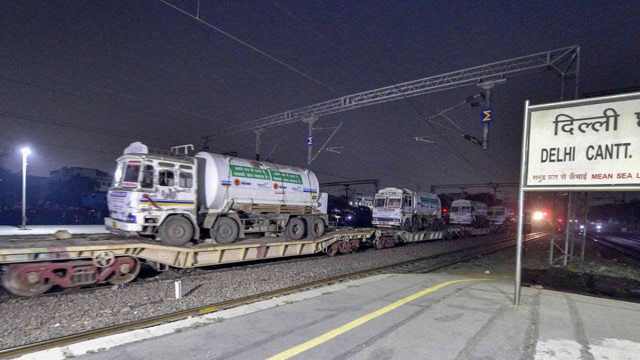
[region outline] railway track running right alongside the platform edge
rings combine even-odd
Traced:
[[[540,238],[544,238],[545,236],[548,236],[548,233],[528,234],[525,238],[525,241],[538,240]],[[23,354],[36,352],[39,350],[45,350],[47,348],[60,347],[64,345],[69,345],[71,343],[77,343],[79,341],[91,340],[95,338],[100,338],[102,336],[119,334],[122,332],[132,331],[135,329],[143,329],[145,327],[151,327],[154,325],[159,325],[161,323],[173,322],[173,321],[182,320],[184,318],[189,318],[193,316],[200,316],[206,313],[219,311],[221,309],[228,309],[230,307],[250,304],[252,302],[256,302],[259,300],[271,299],[273,297],[289,295],[291,293],[308,290],[310,288],[328,286],[331,284],[335,284],[337,282],[359,279],[362,277],[368,277],[376,274],[382,274],[382,273],[388,273],[388,272],[394,272],[394,273],[397,272],[401,274],[425,274],[428,272],[438,270],[445,266],[453,265],[455,263],[461,263],[463,261],[467,261],[468,259],[476,258],[477,256],[483,256],[486,254],[490,254],[492,252],[497,252],[499,250],[506,249],[508,247],[515,245],[515,239],[516,239],[515,237],[506,238],[502,240],[492,241],[491,243],[476,245],[474,247],[470,247],[467,249],[456,250],[454,252],[449,252],[447,254],[426,256],[423,258],[403,261],[401,263],[396,263],[392,265],[380,266],[377,268],[372,268],[368,270],[353,272],[350,274],[331,277],[328,279],[323,279],[321,281],[308,282],[308,283],[300,284],[297,286],[291,286],[289,288],[268,291],[266,293],[260,293],[257,295],[251,295],[251,296],[242,297],[239,299],[228,300],[225,302],[218,302],[215,304],[208,304],[206,306],[196,307],[196,308],[188,309],[184,311],[177,311],[175,313],[170,313],[166,315],[154,316],[152,318],[147,318],[145,320],[138,320],[130,323],[103,327],[101,329],[79,332],[77,334],[61,336],[60,338],[54,338],[51,340],[38,341],[36,343],[21,345],[19,347],[6,348],[3,350],[0,350],[0,357],[5,359],[6,358],[10,359],[13,357],[21,356]],[[166,279],[163,279],[163,280],[166,281]]]

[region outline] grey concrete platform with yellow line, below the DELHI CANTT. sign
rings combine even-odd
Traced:
[[[639,320],[636,303],[523,288],[513,306],[511,283],[389,274],[22,359],[637,359]]]

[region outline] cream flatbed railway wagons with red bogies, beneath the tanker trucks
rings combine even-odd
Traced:
[[[143,262],[164,271],[321,252],[333,256],[355,252],[365,243],[383,249],[397,243],[465,237],[461,235],[465,231],[470,235],[488,234],[491,229],[449,227],[418,233],[399,229],[331,229],[319,238],[290,240],[280,236],[232,244],[205,240],[189,247],[115,234],[67,240],[4,236],[0,238],[0,266],[4,288],[16,295],[29,296],[45,293],[54,285],[73,288],[101,283],[124,284],[136,279]]]

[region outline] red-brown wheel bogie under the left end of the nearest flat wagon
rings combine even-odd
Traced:
[[[54,285],[73,288],[102,282],[124,284],[135,279],[139,272],[140,261],[131,256],[111,258],[107,263],[84,260],[11,264],[3,274],[3,285],[15,295],[40,295]]]

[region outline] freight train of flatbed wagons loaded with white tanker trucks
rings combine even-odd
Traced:
[[[499,231],[447,227],[435,194],[397,188],[376,194],[376,227],[327,229],[327,197],[310,170],[209,152],[189,156],[182,148],[152,152],[132,143],[125,149],[108,193],[111,217],[105,224],[111,236],[0,238],[4,288],[38,295],[52,286],[124,284],[136,279],[143,263],[163,271],[322,252],[333,256],[364,244],[382,249]],[[250,233],[268,236],[236,241]]]

